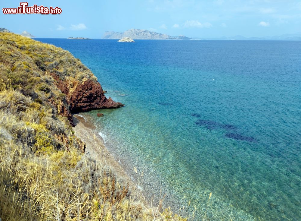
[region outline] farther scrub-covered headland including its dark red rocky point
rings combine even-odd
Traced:
[[[3,81],[33,100],[54,106],[72,126],[74,112],[123,106],[106,98],[94,74],[66,50],[3,32],[0,45]]]

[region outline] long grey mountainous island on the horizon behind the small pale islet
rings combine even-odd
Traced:
[[[106,31],[104,33],[104,39],[123,39],[125,37],[129,37],[132,39],[159,39],[159,40],[190,40],[192,38],[188,38],[184,35],[180,36],[170,36],[167,34],[161,34],[149,30],[144,29],[129,29],[125,32],[115,32],[115,31]]]

